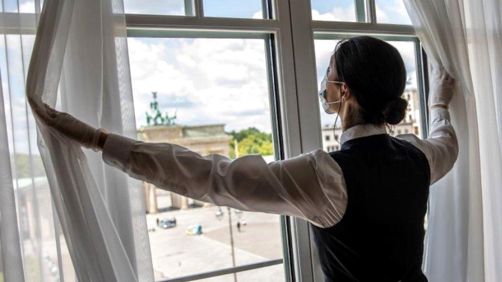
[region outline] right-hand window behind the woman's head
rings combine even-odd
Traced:
[[[298,18],[308,17],[311,19],[310,22],[292,22],[293,28],[296,26],[296,29],[300,30],[294,44],[296,51],[295,59],[301,62],[297,64],[295,69],[299,78],[298,85],[300,85],[299,90],[301,90],[301,93],[316,92],[318,90],[318,87],[317,89],[312,89],[307,86],[301,86],[313,85],[314,83],[312,82],[314,81],[317,81],[317,86],[319,85],[322,77],[324,77],[330,55],[338,40],[356,35],[379,37],[394,45],[400,51],[408,76],[408,83],[403,97],[408,98],[409,96],[410,107],[406,114],[409,120],[406,120],[406,123],[396,125],[396,128],[400,130],[408,129],[409,132],[413,132],[419,137],[424,137],[425,130],[422,130],[422,128],[425,129],[426,112],[423,107],[425,105],[425,95],[422,87],[422,72],[424,71],[422,62],[423,53],[415,31],[410,26],[406,10],[401,5],[401,0],[322,1],[322,3],[321,1],[310,0],[311,9],[305,9],[306,5],[301,4],[304,1],[298,2],[291,4],[292,16]],[[354,9],[347,10],[346,12],[347,17],[350,18],[340,19],[334,18],[332,15],[331,11],[340,10],[343,5],[352,4]],[[320,7],[322,5],[328,6],[328,8],[321,11]],[[364,9],[359,9],[361,6]],[[305,10],[311,12],[310,17],[304,15],[306,13]],[[320,16],[322,14],[324,14],[324,17]],[[310,28],[302,28],[303,26],[309,26]],[[304,43],[304,39],[310,36],[314,38],[314,46]],[[314,53],[314,58],[310,57],[312,53]],[[310,62],[315,62],[315,64]],[[311,69],[315,71],[312,72]],[[302,146],[313,149],[322,144],[323,148],[327,148],[327,142],[318,136],[329,134],[336,140],[337,135],[342,134],[341,124],[339,121],[335,124],[336,115],[325,114],[318,99],[315,99],[317,97],[314,98],[312,96],[311,100],[308,99],[308,95],[305,95],[305,97],[303,99],[303,96],[299,96],[299,104],[305,107],[305,109],[302,107],[299,108],[300,122],[302,123],[301,130],[304,136],[302,138]],[[320,109],[317,120],[309,116],[313,108]],[[313,129],[315,127],[321,131],[321,134],[316,134]],[[339,149],[339,146],[335,145],[335,149]],[[315,248],[312,249],[315,252]],[[314,280],[321,280],[322,272],[320,268],[316,265],[312,268]]]

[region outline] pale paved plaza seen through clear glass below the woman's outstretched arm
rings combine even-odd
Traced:
[[[162,196],[159,197],[162,210]],[[217,206],[165,211],[147,215],[155,278],[173,278],[200,272],[232,267],[228,210],[216,216]],[[156,219],[176,218],[176,227],[156,227]],[[232,233],[236,265],[251,264],[282,257],[279,216],[231,210]],[[244,220],[241,232],[237,221]],[[190,236],[186,230],[192,224],[201,224],[203,234]],[[153,231],[155,230],[155,231]],[[283,281],[283,266],[277,265],[237,274],[238,281]],[[202,281],[202,280],[201,280]],[[225,275],[204,281],[234,281],[234,275]]]

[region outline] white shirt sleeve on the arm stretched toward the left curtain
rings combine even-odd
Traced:
[[[253,212],[298,216],[330,227],[345,213],[343,173],[318,149],[266,163],[260,155],[235,160],[201,156],[170,143],[146,143],[110,134],[103,160],[133,178],[189,198]]]

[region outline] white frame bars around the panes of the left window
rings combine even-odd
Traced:
[[[263,19],[204,17],[202,0],[185,0],[186,16],[126,14],[128,37],[184,37],[242,39],[256,38],[265,42],[271,117],[277,159],[300,154],[297,100],[294,82],[293,47],[288,0],[262,0]],[[188,8],[187,8],[188,7]],[[276,12],[277,11],[277,12]],[[280,20],[279,20],[280,18]],[[277,47],[276,47],[277,46]],[[279,113],[279,114],[278,114]],[[291,114],[288,114],[291,113]],[[283,130],[284,129],[284,130]],[[291,254],[295,236],[291,220],[280,216],[283,258],[256,262],[226,269],[217,269],[183,277],[160,280],[191,281],[240,271],[259,269],[283,263],[284,277],[293,281]]]

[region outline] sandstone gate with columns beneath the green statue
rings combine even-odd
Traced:
[[[224,127],[224,124],[145,126],[138,130],[138,139],[181,145],[201,155],[219,154],[228,157],[230,149],[228,144],[232,137],[225,133]],[[146,182],[143,185],[147,212],[158,212],[156,187]],[[172,192],[170,196],[170,208],[188,209],[190,204],[204,204]]]

